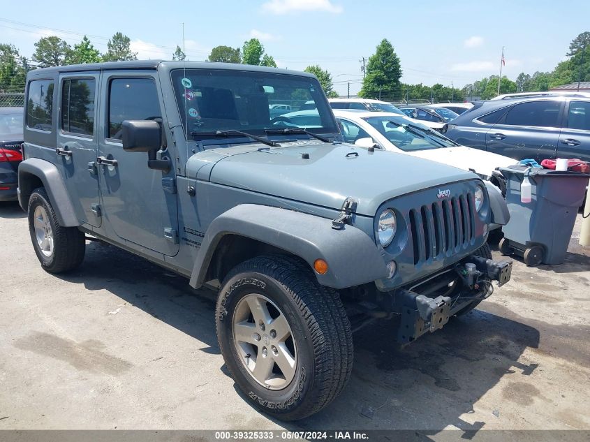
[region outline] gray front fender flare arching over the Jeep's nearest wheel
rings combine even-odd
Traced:
[[[278,247],[305,260],[314,268],[316,259],[328,264],[326,274],[316,274],[323,286],[346,288],[388,277],[375,242],[362,230],[346,225],[332,228],[332,220],[302,212],[243,204],[229,209],[207,228],[193,265],[190,285],[198,288],[219,241],[224,235],[241,235]]]

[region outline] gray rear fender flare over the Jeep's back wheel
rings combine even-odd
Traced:
[[[49,161],[30,158],[18,165],[18,201],[20,207],[27,212],[29,197],[37,187],[36,180],[30,179],[31,175],[37,177],[43,183],[61,226],[80,226],[80,221],[78,221],[75,214],[64,180],[61,179],[57,167]]]

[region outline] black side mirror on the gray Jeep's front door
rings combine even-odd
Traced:
[[[156,159],[156,152],[162,147],[162,128],[153,120],[125,120],[121,131],[123,149],[127,152],[147,152],[147,167],[170,172],[169,158]]]

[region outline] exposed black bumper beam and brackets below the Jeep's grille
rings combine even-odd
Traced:
[[[512,262],[470,256],[454,271],[458,274],[461,288],[451,295],[433,298],[411,290],[397,290],[395,300],[401,313],[397,341],[400,344],[408,344],[426,332],[442,328],[451,316],[472,302],[492,295],[492,281],[498,281],[498,286],[510,281]]]

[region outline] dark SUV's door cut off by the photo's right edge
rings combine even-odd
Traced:
[[[570,101],[557,156],[590,161],[590,101]]]

